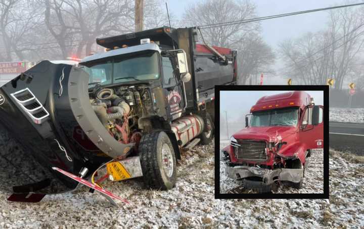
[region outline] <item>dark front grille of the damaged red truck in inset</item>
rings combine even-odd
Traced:
[[[233,142],[232,142],[233,145]],[[244,160],[267,160],[265,153],[266,142],[254,140],[237,140],[234,153],[237,159]]]

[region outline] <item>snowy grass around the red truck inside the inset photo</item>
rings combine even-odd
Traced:
[[[220,149],[229,144],[229,141],[221,141]],[[254,193],[253,190],[247,190],[242,186],[241,181],[231,179],[225,173],[226,164],[220,161],[220,192],[243,192]],[[303,179],[303,188],[294,189],[287,184],[281,183],[276,193],[324,193],[324,153],[323,150],[317,149],[312,152],[308,158],[308,167],[305,170]]]

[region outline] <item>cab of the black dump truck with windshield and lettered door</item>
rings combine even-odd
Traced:
[[[173,120],[180,117],[187,104],[184,83],[191,80],[191,74],[188,72],[186,53],[183,50],[163,50],[149,39],[146,42],[87,56],[80,64],[89,74],[90,91],[95,85],[148,85],[152,89],[153,101],[158,101],[154,107],[151,106],[149,115]],[[158,96],[167,100],[156,99]],[[163,108],[157,109],[156,106]]]

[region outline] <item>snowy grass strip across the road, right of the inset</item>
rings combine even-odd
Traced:
[[[344,123],[364,123],[364,108],[330,107],[330,121]]]

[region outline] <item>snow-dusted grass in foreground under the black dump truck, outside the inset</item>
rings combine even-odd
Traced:
[[[169,191],[145,190],[141,179],[106,183],[131,202],[120,209],[86,188],[35,204],[0,193],[0,228],[364,227],[364,157],[330,152],[330,200],[215,200],[213,151],[210,144],[184,152]]]

